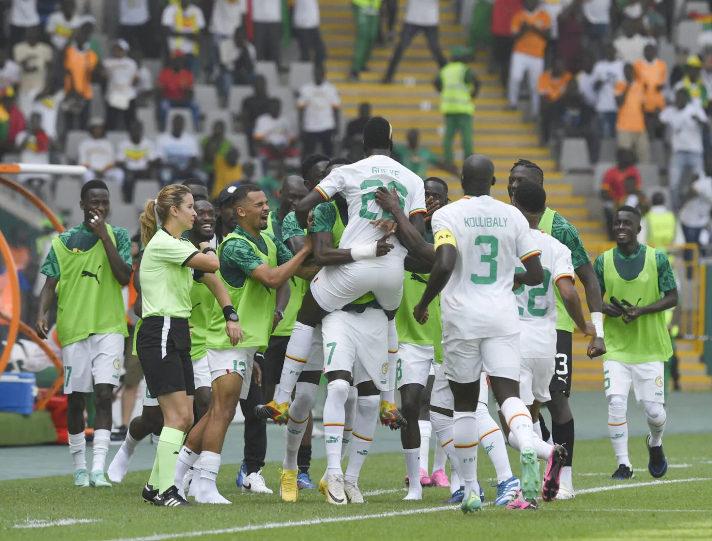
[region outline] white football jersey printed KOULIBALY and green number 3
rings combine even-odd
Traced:
[[[529,224],[512,205],[488,195],[463,197],[437,210],[433,233],[449,230],[458,258],[440,296],[443,338],[508,336],[519,332],[512,292],[520,259],[539,254]]]

